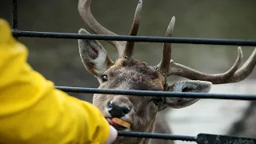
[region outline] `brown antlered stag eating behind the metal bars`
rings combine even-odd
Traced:
[[[78,11],[82,19],[96,34],[114,34],[107,30],[90,12],[91,0],[79,0]],[[142,0],[135,10],[130,35],[137,35],[142,11]],[[166,37],[171,37],[175,17],[172,17],[166,30]],[[84,29],[78,34],[90,34]],[[157,90],[175,92],[208,93],[212,84],[239,82],[254,70],[256,49],[250,58],[239,68],[242,61],[242,49],[238,47],[238,57],[222,74],[205,74],[171,59],[171,44],[166,42],[162,47],[162,59],[157,66],[149,66],[133,58],[134,42],[108,41],[118,50],[118,59],[114,62],[104,47],[96,40],[78,39],[78,49],[86,70],[99,82],[100,89],[115,90]],[[170,75],[178,75],[188,80],[166,82]],[[158,111],[166,107],[183,108],[198,102],[199,98],[162,98],[136,97],[117,94],[94,94],[93,104],[98,106],[111,125],[118,130],[153,132]],[[131,124],[130,129],[118,126],[111,118],[121,118]],[[115,143],[148,144],[148,138],[118,137]]]

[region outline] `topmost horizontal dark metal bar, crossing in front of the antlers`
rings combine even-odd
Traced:
[[[13,30],[15,37],[97,39],[133,42],[172,42],[205,45],[256,46],[255,40],[214,39],[214,38],[169,38],[130,35],[74,34]]]

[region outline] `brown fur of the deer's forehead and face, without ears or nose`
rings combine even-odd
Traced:
[[[100,82],[101,89],[120,90],[164,90],[165,78],[152,66],[147,66],[145,62],[138,62],[133,58],[120,58],[113,66],[104,72],[108,76],[108,82]],[[100,80],[99,80],[100,81]],[[158,107],[150,101],[151,97],[121,96],[112,94],[94,94],[93,103],[108,117],[106,103],[114,98],[126,97],[133,106],[134,113],[126,122],[131,123],[131,130],[142,132],[153,132],[155,115]],[[123,102],[120,102],[121,104]],[[126,102],[127,103],[127,102]],[[149,138],[128,138],[118,137],[115,143],[149,143]]]

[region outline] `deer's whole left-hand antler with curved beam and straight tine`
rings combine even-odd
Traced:
[[[82,19],[86,22],[86,24],[90,27],[91,30],[96,34],[110,34],[110,35],[118,35],[114,32],[107,30],[104,26],[102,26],[98,21],[94,18],[93,14],[90,12],[90,3],[91,0],[79,0],[78,2],[78,11],[81,15]],[[138,33],[138,26],[140,20],[140,12],[142,10],[142,0],[139,0],[137,9],[134,15],[134,22],[130,29],[130,35],[136,35]],[[111,45],[117,48],[118,57],[122,56],[131,56],[134,50],[134,42],[122,42],[122,41],[107,41],[110,42]]]

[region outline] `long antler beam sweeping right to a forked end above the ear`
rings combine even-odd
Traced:
[[[254,69],[256,63],[256,49],[254,53],[250,56],[247,62],[238,70],[238,67],[242,61],[242,50],[241,47],[238,47],[238,58],[234,62],[234,65],[222,74],[204,74],[198,70],[191,69],[190,67],[183,66],[181,64],[170,62],[170,70],[167,74],[169,75],[178,75],[184,78],[189,78],[192,80],[202,80],[212,82],[213,84],[222,84],[222,83],[231,83],[241,81],[243,78],[246,78],[251,71]],[[238,71],[237,71],[238,70]]]

